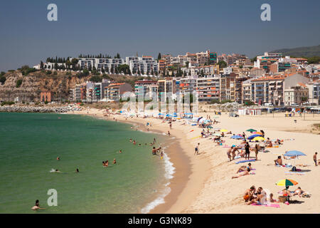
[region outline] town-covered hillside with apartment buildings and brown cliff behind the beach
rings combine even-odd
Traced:
[[[0,101],[95,103],[196,94],[199,102],[275,106],[319,104],[320,64],[282,53],[265,53],[252,63],[241,54],[198,52],[185,55],[78,56],[1,73]],[[124,98],[124,99],[123,99]]]

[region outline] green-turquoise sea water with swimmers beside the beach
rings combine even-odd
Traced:
[[[87,116],[0,113],[0,213],[139,213],[165,184],[164,160],[144,145],[155,137],[164,142]],[[50,189],[57,207],[47,204]],[[31,210],[36,199],[45,210]]]

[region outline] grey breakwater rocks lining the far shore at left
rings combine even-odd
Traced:
[[[72,110],[70,107],[0,106],[0,112],[6,113],[66,113]]]

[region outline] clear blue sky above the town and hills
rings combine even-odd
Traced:
[[[58,6],[58,21],[47,6]],[[272,21],[260,20],[271,5]],[[0,6],[0,71],[49,56],[244,53],[320,44],[320,1],[11,0]]]

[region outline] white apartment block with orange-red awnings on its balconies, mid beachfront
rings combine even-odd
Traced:
[[[218,76],[198,78],[196,92],[199,102],[218,101],[220,99],[220,78]]]

